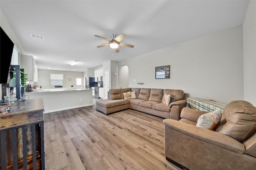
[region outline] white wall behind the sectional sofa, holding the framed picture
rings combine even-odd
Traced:
[[[228,104],[244,98],[242,42],[240,25],[121,61],[119,68],[128,66],[129,87],[181,89]],[[170,79],[155,79],[155,67],[165,65]]]

